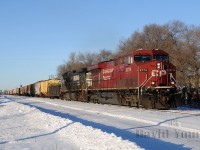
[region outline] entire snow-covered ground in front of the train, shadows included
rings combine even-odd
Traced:
[[[200,149],[200,110],[0,96],[0,149]]]

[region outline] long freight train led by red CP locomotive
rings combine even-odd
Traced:
[[[67,71],[51,79],[8,91],[7,94],[41,96],[153,109],[180,105],[176,67],[163,50],[139,49],[109,61]]]

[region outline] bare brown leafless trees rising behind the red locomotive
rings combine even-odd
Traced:
[[[177,69],[177,83],[199,87],[200,26],[187,25],[178,20],[163,25],[145,25],[142,31],[135,31],[129,38],[120,41],[115,52],[102,49],[99,53],[71,53],[68,61],[58,66],[58,76],[141,48],[168,52],[170,61]]]

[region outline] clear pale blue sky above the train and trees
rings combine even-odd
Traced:
[[[0,89],[48,79],[71,52],[114,51],[150,23],[198,26],[199,6],[199,0],[0,0]]]

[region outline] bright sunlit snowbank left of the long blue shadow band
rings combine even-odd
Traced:
[[[91,126],[0,98],[0,149],[141,149]]]

